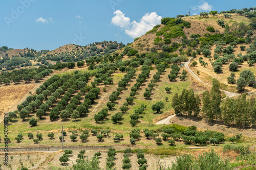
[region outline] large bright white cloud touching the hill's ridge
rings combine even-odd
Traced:
[[[146,13],[139,22],[133,21],[130,22],[129,17],[125,17],[120,10],[114,12],[116,16],[112,18],[112,23],[124,29],[125,34],[129,35],[132,38],[140,37],[144,35],[147,31],[153,29],[154,26],[161,23],[161,16],[158,16],[156,12]]]

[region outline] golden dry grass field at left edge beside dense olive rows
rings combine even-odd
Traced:
[[[10,109],[22,97],[35,87],[35,84],[30,85],[13,85],[0,87],[0,115],[4,111]]]

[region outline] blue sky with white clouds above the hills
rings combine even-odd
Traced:
[[[255,7],[248,1],[12,0],[1,1],[0,46],[54,50],[65,44],[133,42],[163,17]]]

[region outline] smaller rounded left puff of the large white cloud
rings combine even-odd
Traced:
[[[114,14],[116,14],[116,16],[114,16],[111,19],[111,22],[115,26],[120,27],[121,29],[129,28],[129,26],[131,25],[130,18],[125,17],[124,16],[125,14],[122,13],[122,11],[120,11],[120,10],[115,11]]]

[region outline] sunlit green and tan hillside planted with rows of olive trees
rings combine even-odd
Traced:
[[[47,66],[0,76],[8,147],[51,148],[54,153],[38,154],[44,161],[31,154],[39,169],[63,169],[84,155],[102,168],[153,170],[173,160],[177,169],[212,161],[221,167],[215,170],[254,168],[256,9],[232,11],[162,18],[127,45],[103,41],[32,50],[41,56],[30,62]],[[12,51],[22,53],[8,55]],[[4,115],[0,120],[4,126]],[[65,147],[91,152],[57,152],[61,126]],[[102,155],[91,159],[99,148]],[[14,167],[21,168],[17,159]]]

